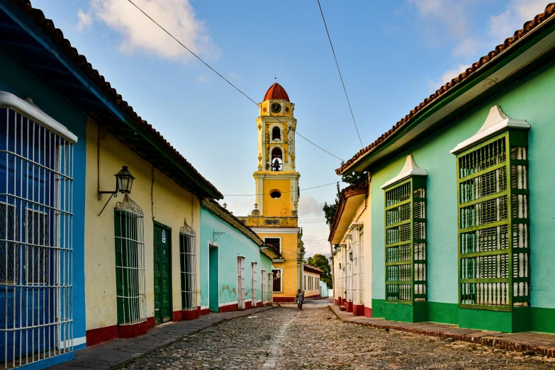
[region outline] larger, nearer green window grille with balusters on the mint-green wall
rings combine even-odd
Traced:
[[[529,305],[528,133],[505,130],[456,155],[459,306]]]

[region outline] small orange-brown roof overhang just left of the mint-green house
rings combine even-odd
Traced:
[[[328,241],[332,244],[340,244],[345,233],[349,231],[357,210],[366,201],[368,195],[368,184],[349,186],[343,189],[337,211],[333,219],[332,228]]]

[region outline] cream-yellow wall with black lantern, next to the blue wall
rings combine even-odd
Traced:
[[[116,189],[114,174],[128,166],[135,176],[130,198],[145,214],[145,277],[147,318],[154,316],[154,252],[153,230],[156,220],[172,228],[172,311],[181,310],[181,285],[179,279],[179,229],[187,223],[196,230],[198,254],[200,233],[200,204],[191,192],[176,184],[150,162],[140,158],[127,145],[108,134],[100,140],[99,126],[89,119],[86,133],[86,204],[85,204],[85,284],[86,330],[117,324],[116,301],[116,240],[114,207],[123,195],[109,201],[101,215],[99,212],[110,194],[99,199],[97,179],[101,191]],[[100,158],[100,162],[97,159]],[[97,167],[97,165],[99,167]],[[76,169],[78,170],[78,169]],[[196,259],[198,274],[199,259]],[[197,279],[197,286],[200,279]],[[197,287],[197,305],[200,287]]]

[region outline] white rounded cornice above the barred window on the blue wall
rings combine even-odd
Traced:
[[[0,91],[0,107],[12,108],[53,133],[65,138],[65,140],[69,140],[74,144],[77,142],[77,136],[67,130],[65,125],[48,116],[33,103],[20,99],[9,92]]]

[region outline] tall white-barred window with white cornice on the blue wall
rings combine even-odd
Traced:
[[[43,111],[0,91],[0,363],[6,369],[73,350],[75,142]]]

